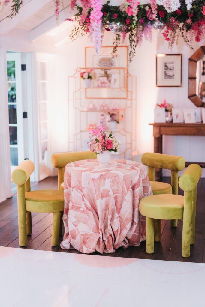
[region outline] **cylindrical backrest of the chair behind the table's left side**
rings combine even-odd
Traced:
[[[92,151],[76,151],[70,153],[54,153],[51,156],[53,167],[65,167],[66,164],[79,160],[97,159],[96,153]]]

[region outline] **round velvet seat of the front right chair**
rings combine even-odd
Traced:
[[[140,200],[139,210],[144,216],[159,220],[183,219],[184,196],[151,195]]]

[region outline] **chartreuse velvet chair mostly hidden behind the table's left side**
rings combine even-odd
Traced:
[[[51,163],[53,167],[58,168],[58,189],[64,190],[64,173],[66,164],[89,159],[97,159],[97,154],[89,150],[69,153],[54,153],[51,156]]]

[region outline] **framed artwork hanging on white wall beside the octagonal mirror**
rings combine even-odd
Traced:
[[[156,54],[156,87],[182,86],[182,54]]]

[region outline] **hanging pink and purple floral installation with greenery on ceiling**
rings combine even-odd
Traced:
[[[2,6],[10,2],[1,1]],[[54,0],[55,15],[58,21],[60,5],[63,0]],[[75,40],[83,35],[89,35],[96,53],[99,52],[105,31],[115,34],[113,55],[120,41],[126,36],[129,40],[129,60],[132,61],[137,46],[143,37],[152,40],[152,27],[159,30],[168,41],[170,48],[182,37],[192,48],[193,40],[203,44],[205,39],[205,3],[200,0],[150,0],[141,5],[136,0],[125,0],[120,6],[102,4],[102,0],[71,0],[71,10],[77,8],[78,13],[67,20],[77,21],[71,31],[70,38]],[[64,5],[65,5],[64,0]],[[22,1],[12,1],[12,17],[22,5]]]

